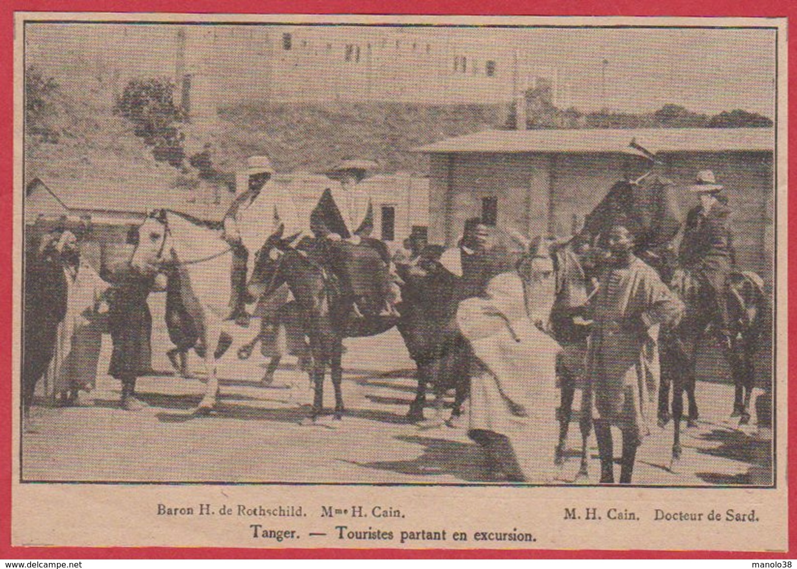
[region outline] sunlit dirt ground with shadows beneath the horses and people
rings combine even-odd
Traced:
[[[155,322],[159,322],[154,306]],[[162,321],[161,321],[162,322]],[[193,413],[202,397],[202,362],[191,356],[198,378],[175,377],[165,357],[165,330],[153,334],[158,375],[139,379],[147,408],[119,408],[120,384],[104,374],[110,338],[104,337],[97,387],[79,407],[37,406],[37,433],[22,444],[25,480],[309,482],[309,483],[489,483],[481,449],[466,434],[467,417],[452,427],[436,421],[415,425],[404,415],[414,397],[413,365],[398,332],[347,340],[344,398],[347,413],[307,425],[312,391],[306,373],[286,358],[273,385],[261,387],[265,359],[255,352],[239,361],[235,351],[257,330],[235,333],[219,363],[222,397],[210,416]],[[732,386],[699,381],[701,421],[686,429],[681,460],[671,464],[672,425],[655,429],[638,451],[634,483],[662,485],[770,484],[771,441],[752,424],[740,427],[728,414]],[[755,397],[755,396],[754,396]],[[333,405],[332,384],[325,403]],[[426,410],[434,417],[434,409]],[[446,413],[447,417],[447,413]],[[580,447],[571,425],[560,484],[595,484],[599,475],[595,439],[590,476],[576,480]],[[618,445],[617,445],[618,446]]]

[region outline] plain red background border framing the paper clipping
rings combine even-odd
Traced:
[[[249,549],[230,547],[11,547],[11,419],[16,410],[11,404],[11,291],[12,291],[12,239],[14,190],[14,12],[190,12],[190,13],[243,13],[243,14],[439,14],[439,15],[579,15],[579,16],[730,16],[797,18],[797,2],[790,0],[657,0],[631,2],[631,0],[542,0],[506,2],[502,0],[333,0],[305,1],[300,7],[295,0],[6,0],[0,8],[0,140],[5,141],[5,152],[0,156],[0,557],[4,559],[262,559],[262,558],[537,558],[537,559],[638,559],[638,558],[713,558],[713,559],[768,559],[787,558],[797,551],[797,508],[795,496],[789,493],[789,552],[740,553],[731,551],[549,551],[549,550],[406,550],[406,549]],[[791,79],[797,75],[797,42],[787,45],[789,65],[789,103],[797,97],[797,84]],[[790,125],[791,127],[791,125]],[[788,129],[789,144],[797,148],[795,129]],[[789,167],[797,172],[797,159],[792,150]],[[790,241],[797,242],[797,215],[789,208]],[[788,263],[797,263],[797,253],[789,252]],[[797,291],[795,279],[789,274],[788,290]],[[797,308],[789,310],[789,354],[797,347]],[[797,358],[792,358],[789,372],[797,369]],[[797,416],[797,390],[789,393],[789,409]],[[797,442],[797,421],[788,426],[788,441]],[[797,453],[788,456],[788,484],[797,484]]]

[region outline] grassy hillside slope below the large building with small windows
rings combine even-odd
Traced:
[[[342,156],[378,160],[383,171],[425,173],[416,146],[459,136],[506,121],[503,105],[406,105],[391,103],[330,105],[244,104],[219,111],[209,132],[214,163],[226,169],[246,156],[265,153],[278,170],[323,171]],[[193,132],[192,132],[193,131]]]

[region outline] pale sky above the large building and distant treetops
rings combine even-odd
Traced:
[[[173,26],[28,26],[29,62],[61,73],[96,61],[160,73],[173,65],[167,55]],[[356,40],[370,31],[338,28],[336,36]],[[234,33],[247,32],[238,27]],[[427,27],[413,34],[489,45],[540,69],[558,69],[572,105],[582,111],[607,106],[639,113],[674,103],[698,113],[745,109],[774,117],[775,30]]]

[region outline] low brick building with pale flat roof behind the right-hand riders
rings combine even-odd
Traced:
[[[678,186],[711,169],[735,212],[740,268],[771,283],[775,134],[771,128],[642,128],[485,131],[417,148],[430,156],[431,243],[455,243],[465,219],[527,235],[569,235],[622,178],[631,140],[658,152]],[[682,209],[697,203],[682,194]]]

